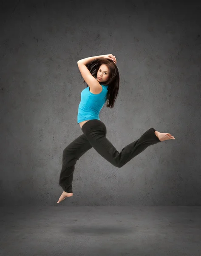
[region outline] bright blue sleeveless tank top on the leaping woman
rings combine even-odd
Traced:
[[[77,122],[99,119],[99,113],[106,102],[108,85],[102,85],[102,92],[99,94],[91,93],[89,87],[81,92],[81,101],[78,107]]]

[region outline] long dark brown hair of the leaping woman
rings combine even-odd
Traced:
[[[108,93],[106,95],[106,106],[108,108],[113,108],[116,97],[119,94],[119,70],[116,67],[116,64],[114,64],[113,61],[109,59],[96,58],[95,60],[88,63],[86,67],[90,71],[91,75],[97,78],[97,72],[102,64],[105,64],[110,70],[110,78],[108,79],[108,81],[103,82],[101,84],[108,85]],[[85,80],[82,82],[82,84],[83,83],[86,83]]]

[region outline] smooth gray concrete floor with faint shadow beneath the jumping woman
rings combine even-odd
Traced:
[[[201,207],[0,207],[0,256],[40,255],[201,256]]]

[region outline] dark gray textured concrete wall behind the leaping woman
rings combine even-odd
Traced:
[[[150,127],[175,140],[118,169],[93,148],[63,205],[201,205],[201,4],[1,1],[0,205],[56,205],[62,151],[82,134],[82,58],[112,53],[115,108],[100,119],[118,151]]]

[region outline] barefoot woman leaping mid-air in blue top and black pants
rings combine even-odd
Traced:
[[[112,54],[89,57],[77,62],[79,71],[88,86],[82,90],[77,121],[82,135],[71,142],[63,151],[59,185],[63,192],[57,203],[73,195],[72,181],[76,161],[92,147],[113,166],[121,168],[133,157],[150,145],[164,140],[174,140],[169,133],[160,133],[150,128],[142,136],[125,146],[121,152],[106,138],[106,127],[99,113],[107,100],[113,108],[119,92],[119,71]]]

